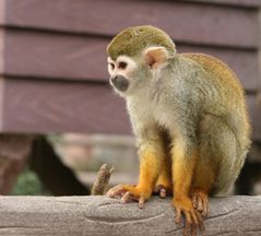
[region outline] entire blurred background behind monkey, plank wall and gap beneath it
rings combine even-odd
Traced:
[[[128,26],[166,31],[178,52],[216,56],[245,91],[252,148],[236,193],[261,193],[260,0],[0,0],[0,193],[88,194],[103,163],[135,182],[124,101],[106,46]]]

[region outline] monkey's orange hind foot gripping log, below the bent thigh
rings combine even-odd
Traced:
[[[202,216],[206,217],[210,213],[209,196],[201,188],[192,189],[192,203]]]

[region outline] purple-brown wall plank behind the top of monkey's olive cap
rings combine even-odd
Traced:
[[[0,24],[7,26],[112,36],[131,25],[153,24],[178,42],[258,46],[258,8],[227,8],[211,1],[4,1],[5,17]]]

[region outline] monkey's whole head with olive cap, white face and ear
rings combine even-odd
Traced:
[[[120,95],[145,86],[155,71],[167,66],[176,50],[171,38],[151,26],[128,27],[107,47],[110,84]]]

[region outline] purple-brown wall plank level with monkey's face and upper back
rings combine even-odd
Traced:
[[[7,76],[107,81],[106,46],[109,39],[105,37],[8,30],[4,38],[3,74]],[[236,71],[247,90],[254,91],[260,83],[257,50],[182,43],[177,44],[177,50],[218,57]]]

